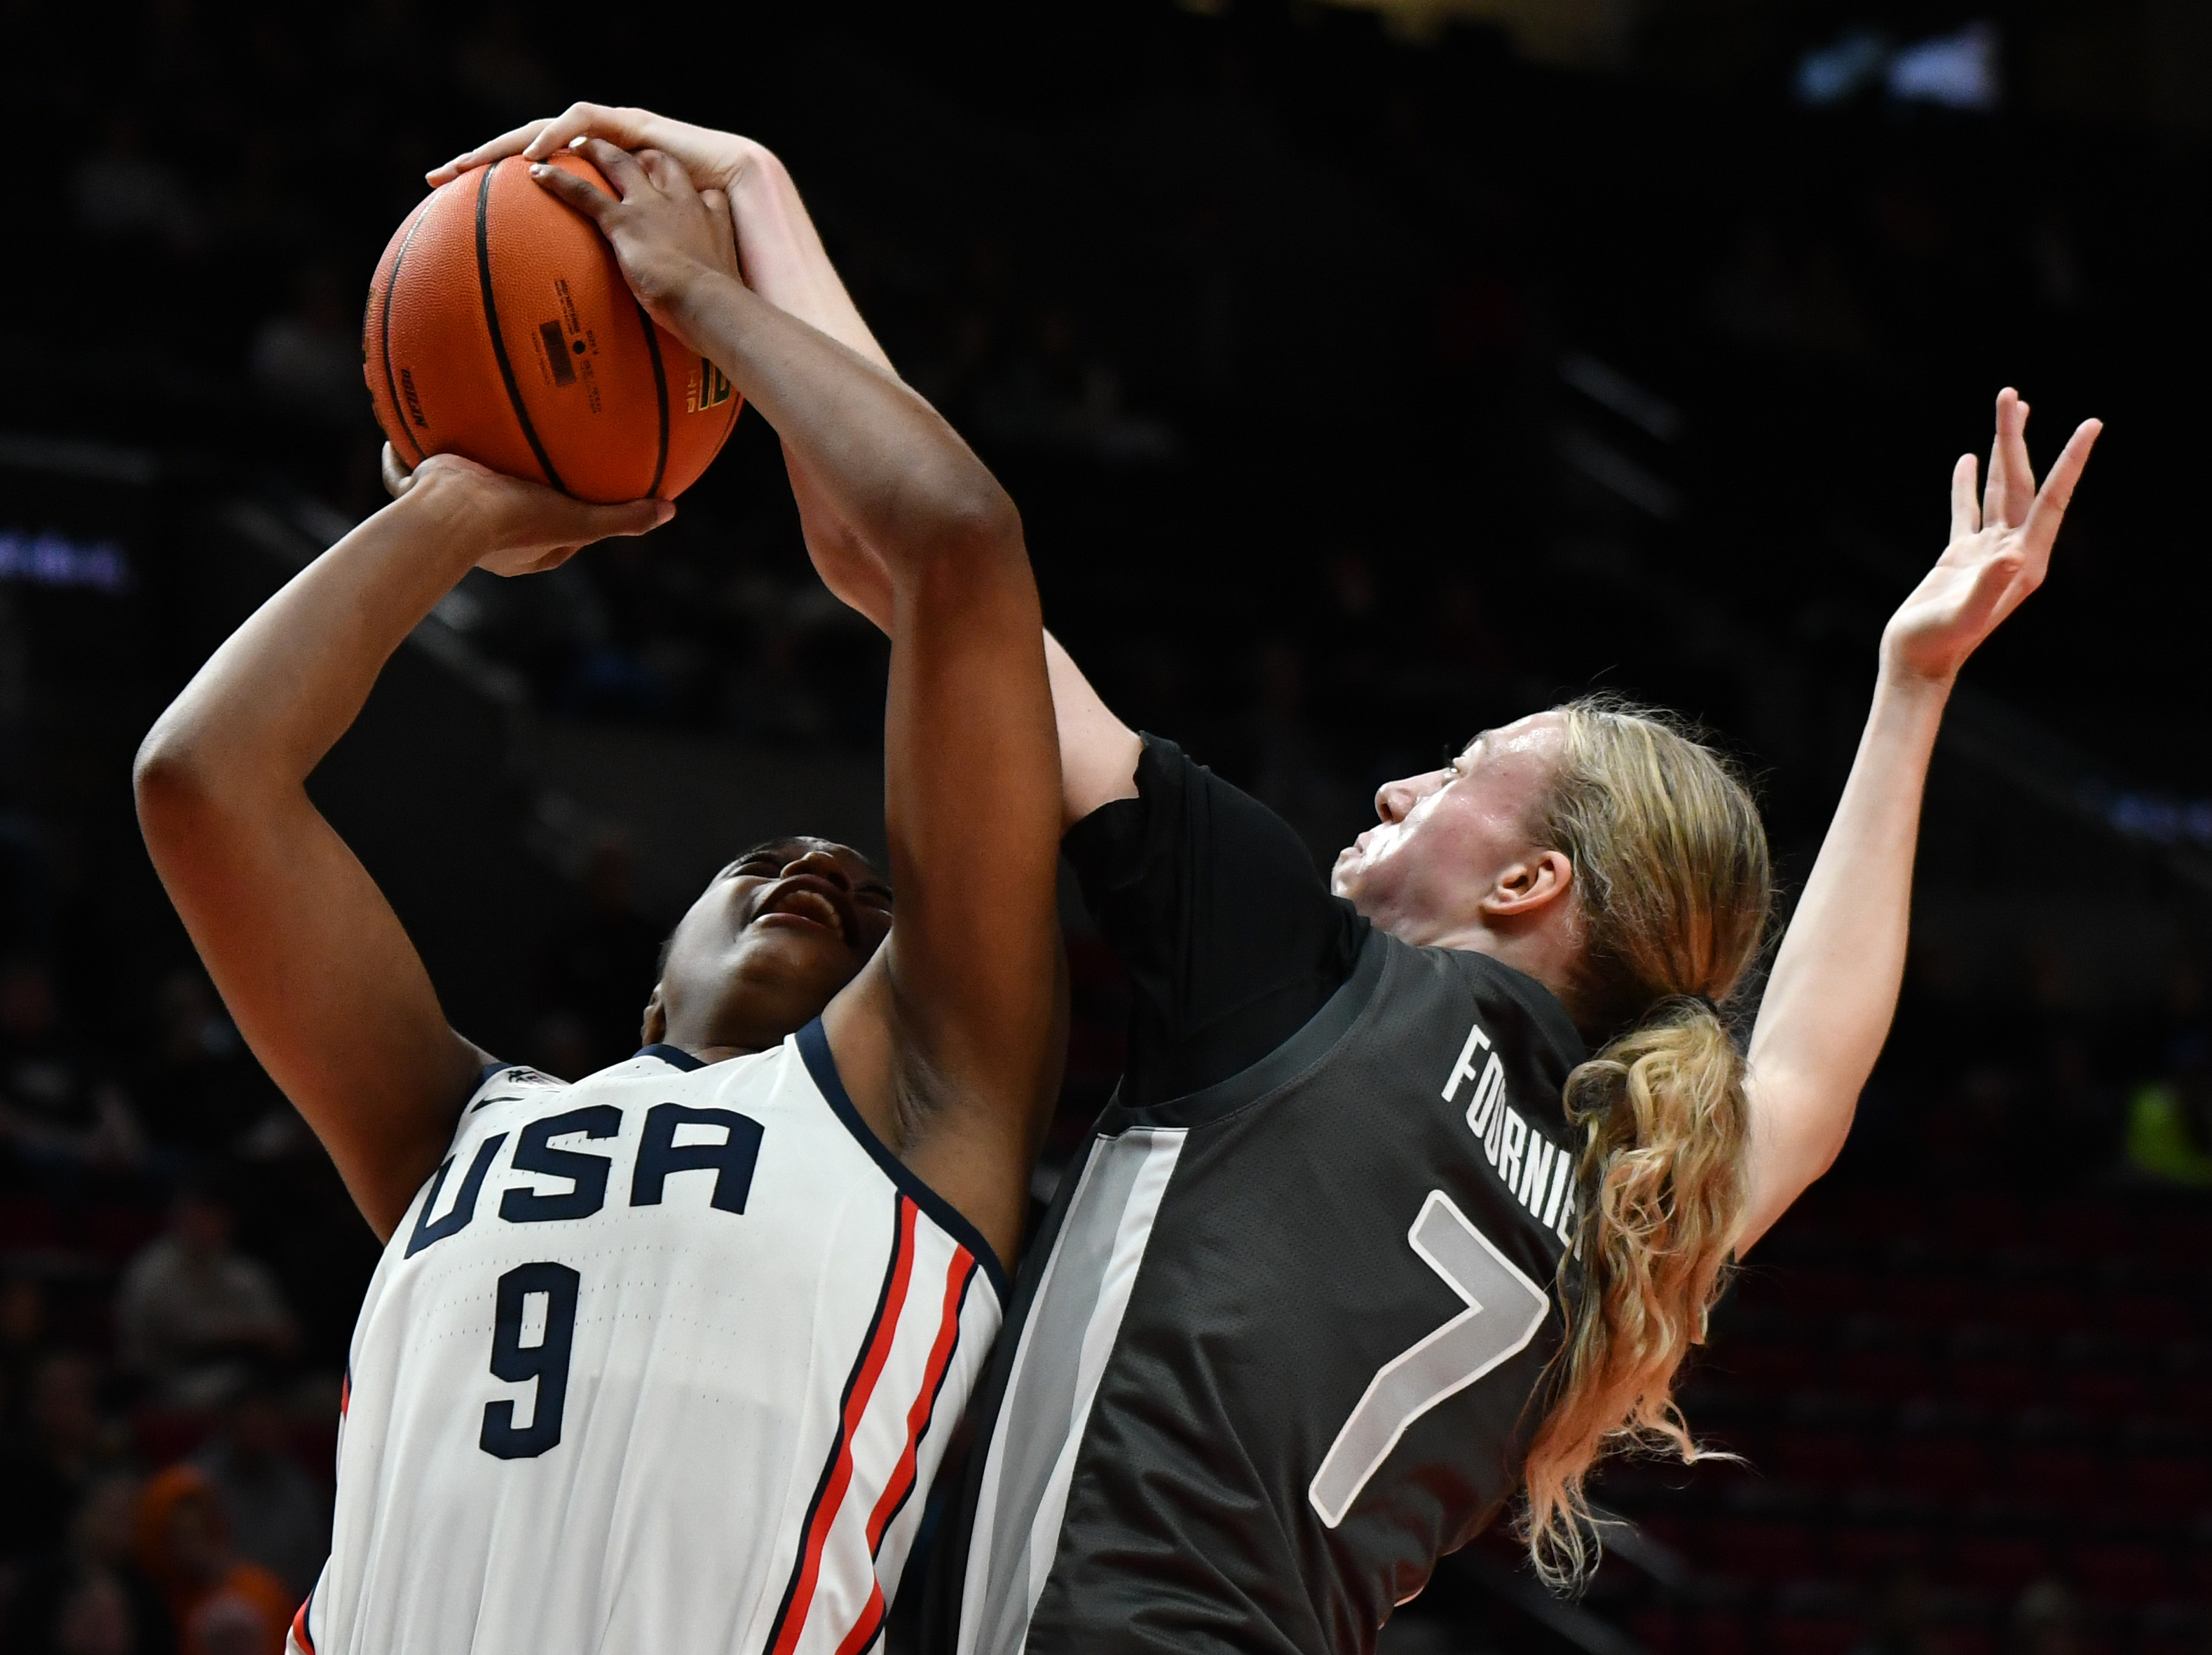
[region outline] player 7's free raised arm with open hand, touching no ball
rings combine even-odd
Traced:
[[[1843,1151],[1905,980],[1913,847],[1936,728],[1966,657],[2051,569],[2066,502],[2104,429],[2084,420],[2042,489],[2028,405],[1997,396],[1989,485],[1951,471],[1951,544],[1882,631],[1874,710],[1752,1031],[1750,1246]]]

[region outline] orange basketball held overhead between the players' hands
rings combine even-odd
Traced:
[[[606,188],[577,155],[553,166]],[[522,157],[462,173],[407,215],[376,261],[361,350],[403,465],[460,454],[577,500],[675,500],[741,405]]]

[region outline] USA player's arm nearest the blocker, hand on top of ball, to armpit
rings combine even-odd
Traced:
[[[599,223],[646,310],[730,376],[885,573],[898,925],[825,1029],[872,1126],[1011,1259],[1060,958],[1060,754],[1020,518],[922,398],[743,283],[721,190],[659,150],[582,155],[619,199],[535,177]]]

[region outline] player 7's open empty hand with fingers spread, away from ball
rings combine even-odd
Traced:
[[[2066,502],[2104,425],[2081,420],[2042,489],[2026,429],[2020,392],[1997,392],[1989,487],[1978,502],[1975,460],[1962,454],[1951,469],[1951,544],[1882,628],[1885,670],[1949,684],[1982,639],[2044,584]]]

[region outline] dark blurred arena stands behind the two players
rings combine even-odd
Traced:
[[[1077,659],[1316,856],[1601,686],[1801,878],[1995,389],[2039,460],[2104,416],[1951,710],[1858,1131],[1690,1385],[1743,1463],[1608,1474],[1588,1597],[1478,1544],[1385,1651],[2212,1648],[2203,0],[0,0],[0,1651],[272,1651],[321,1562],[376,1248],[128,761],[380,500],[422,170],[573,97],[790,162]],[[880,706],[748,414],[670,529],[471,575],[316,792],[456,1022],[577,1075],[732,845],[880,843]],[[1119,1060],[1071,931],[1055,1157]]]

